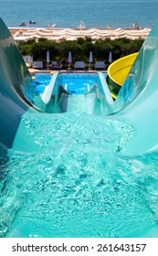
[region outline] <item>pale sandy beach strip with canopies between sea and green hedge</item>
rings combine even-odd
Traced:
[[[48,40],[76,40],[79,37],[91,37],[93,40],[110,37],[111,39],[126,37],[130,39],[146,38],[151,31],[150,28],[140,29],[71,29],[71,28],[30,28],[30,27],[9,27],[16,42],[25,41],[31,38],[47,38]]]

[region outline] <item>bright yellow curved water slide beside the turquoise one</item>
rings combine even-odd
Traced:
[[[121,59],[117,59],[109,66],[107,82],[111,90],[111,95],[114,99],[116,99],[121,89],[121,85],[123,84],[130,69],[132,68],[132,64],[136,59],[137,55],[138,52],[132,53]]]

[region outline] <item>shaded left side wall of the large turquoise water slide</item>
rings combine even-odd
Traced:
[[[22,116],[26,112],[39,110],[31,103],[31,75],[1,18],[0,27],[0,147],[12,148]],[[26,150],[28,144],[29,148],[36,147],[26,134],[22,134],[19,139],[22,150]]]

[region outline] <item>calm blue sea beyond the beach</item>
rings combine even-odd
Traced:
[[[0,0],[0,16],[7,27],[151,28],[158,0]]]

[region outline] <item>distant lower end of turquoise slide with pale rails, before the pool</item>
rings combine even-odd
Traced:
[[[62,73],[62,72],[61,72]],[[111,91],[106,83],[102,72],[97,71],[100,78],[102,93],[98,84],[94,84],[90,90],[87,85],[87,92],[83,94],[73,94],[68,92],[68,84],[57,85],[59,71],[56,71],[46,86],[42,95],[32,92],[32,101],[43,112],[87,112],[89,114],[108,114],[111,111],[113,99]]]

